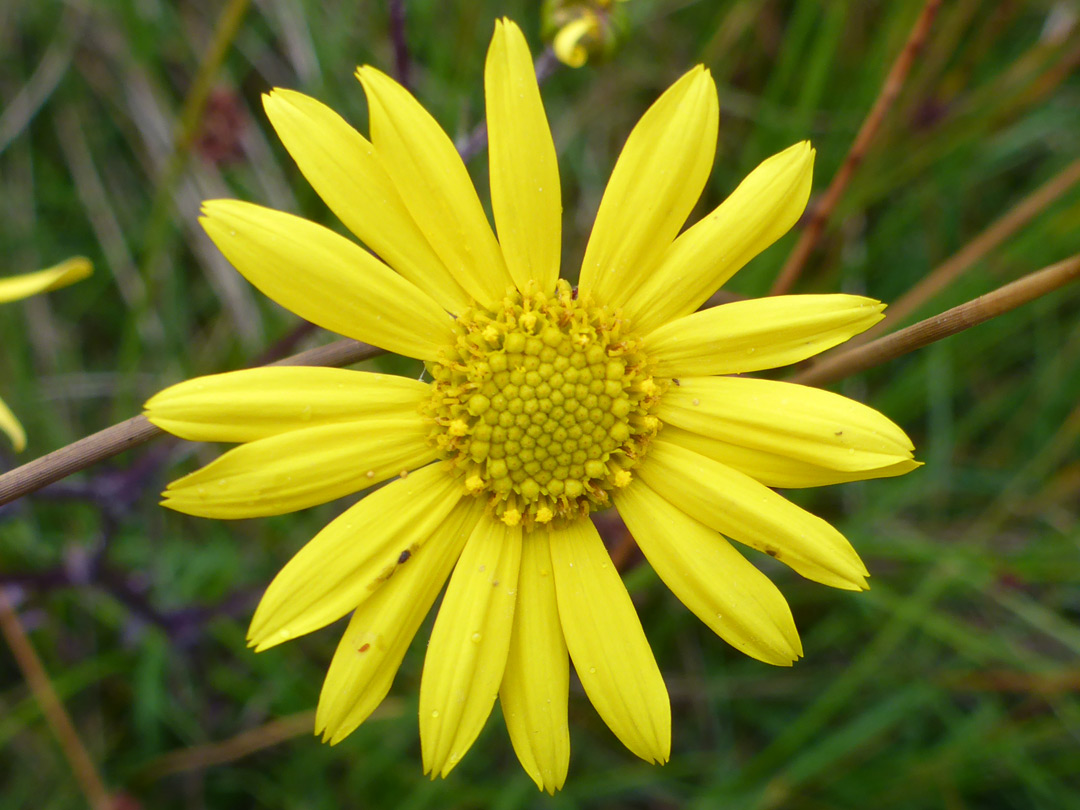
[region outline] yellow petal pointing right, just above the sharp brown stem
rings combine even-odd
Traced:
[[[653,374],[705,377],[779,368],[832,349],[880,321],[858,295],[781,295],[678,318],[646,338]]]

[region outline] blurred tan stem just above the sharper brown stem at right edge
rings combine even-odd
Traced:
[[[1021,200],[986,230],[934,268],[922,281],[890,303],[886,319],[874,328],[854,338],[851,345],[865,343],[889,326],[899,325],[905,318],[963,275],[1078,183],[1080,183],[1080,159],[1072,161]]]

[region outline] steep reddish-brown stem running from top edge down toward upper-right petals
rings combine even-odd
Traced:
[[[863,125],[859,129],[859,134],[855,135],[855,139],[851,144],[843,163],[840,164],[840,170],[833,177],[833,181],[828,184],[824,195],[813,206],[810,218],[802,229],[802,233],[799,235],[799,241],[795,244],[795,249],[792,251],[791,256],[787,257],[787,261],[784,262],[780,275],[777,276],[777,281],[772,285],[770,295],[783,295],[798,281],[807,259],[810,258],[810,254],[813,252],[822,231],[825,229],[825,224],[828,222],[828,218],[836,210],[836,205],[848,188],[848,184],[851,181],[855,170],[866,158],[870,143],[881,129],[881,123],[885,121],[889,110],[892,109],[896,97],[900,95],[900,91],[903,90],[904,82],[907,80],[912,66],[915,64],[915,57],[926,44],[927,36],[930,33],[930,26],[940,6],[941,0],[927,0],[923,3],[922,11],[919,12],[915,25],[912,26],[912,32],[907,36],[904,48],[901,49],[900,55],[893,62],[889,73],[886,76],[885,83],[881,85],[881,92],[878,93],[874,106],[870,107],[870,111],[863,120]]]

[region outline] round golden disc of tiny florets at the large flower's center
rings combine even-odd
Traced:
[[[661,393],[618,313],[555,294],[514,292],[471,309],[429,364],[433,441],[513,526],[588,515],[624,487],[660,421]]]

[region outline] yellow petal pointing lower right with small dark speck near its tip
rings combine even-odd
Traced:
[[[833,588],[866,588],[866,568],[825,521],[737,470],[656,441],[635,472],[659,496],[712,529]]]

